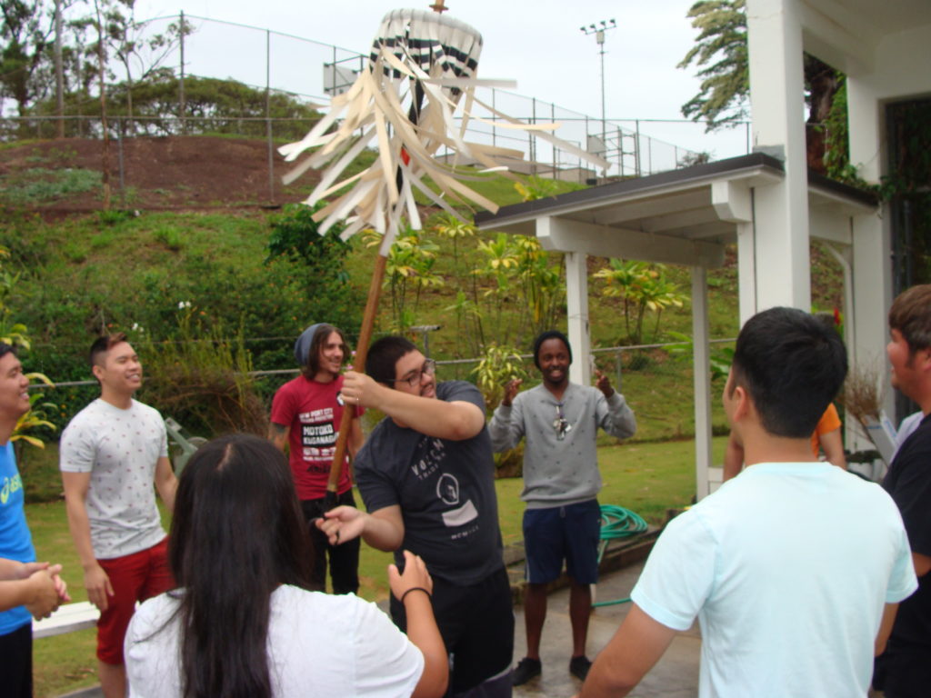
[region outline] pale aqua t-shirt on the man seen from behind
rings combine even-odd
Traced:
[[[830,463],[757,463],[669,522],[631,597],[697,615],[701,698],[862,698],[885,603],[917,588],[896,504]]]

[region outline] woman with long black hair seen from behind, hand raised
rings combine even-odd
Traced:
[[[405,637],[374,604],[309,591],[309,545],[288,463],[271,443],[233,435],[197,450],[169,537],[178,589],[143,603],[129,624],[130,695],[441,696],[448,659],[423,560],[406,553],[403,573],[388,568]]]

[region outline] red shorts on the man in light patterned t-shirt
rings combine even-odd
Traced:
[[[123,664],[123,638],[136,602],[155,597],[174,587],[169,570],[168,543],[124,557],[97,560],[110,578],[114,595],[97,622],[97,658],[107,664]]]

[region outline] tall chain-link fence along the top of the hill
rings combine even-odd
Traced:
[[[144,55],[146,37],[167,34],[172,24],[188,27],[190,33],[180,34],[177,42],[159,54],[157,60],[162,61],[161,65],[177,79],[177,93],[172,100],[165,102],[165,113],[157,118],[112,117],[108,127],[112,138],[118,140],[131,136],[139,132],[137,127],[147,135],[177,135],[196,128],[199,132],[265,137],[271,163],[276,141],[300,138],[310,126],[309,122],[273,119],[272,96],[287,94],[325,110],[330,96],[351,85],[355,75],[366,66],[367,57],[356,51],[291,34],[183,13],[140,22],[140,36],[136,44],[141,47],[142,65],[147,64],[146,60],[156,60],[155,55]],[[219,51],[217,47],[235,47],[236,60],[230,60],[228,50]],[[128,82],[125,68],[112,65],[111,69],[123,85]],[[257,114],[253,108],[249,113],[224,116],[223,119],[192,114],[185,96],[185,81],[190,81],[192,76],[233,79],[264,90],[267,95],[264,113],[260,108]],[[558,146],[501,128],[498,126],[501,116],[495,112],[531,124],[559,123],[561,126],[556,134],[561,140],[599,154],[611,164],[606,173],[609,177],[650,175],[693,165],[708,156],[720,158],[749,152],[749,124],[738,125],[732,131],[704,134],[703,125],[688,120],[602,120],[552,102],[496,88],[479,88],[479,98],[490,108],[476,105],[475,115],[486,123],[470,120],[466,129],[467,139],[519,150],[527,160],[525,173],[531,175],[586,182],[599,178],[601,173]],[[99,101],[99,98],[95,100]],[[6,116],[0,121],[0,138],[23,138],[23,134],[52,138],[62,118],[74,124],[76,128],[72,131],[77,135],[88,138],[101,136],[101,119],[99,115],[92,115],[89,97],[83,109],[80,104],[70,109],[72,112],[64,116],[24,119]],[[99,106],[97,113],[100,113]],[[651,130],[668,135],[663,138],[648,135]],[[699,142],[701,146],[697,150],[681,147],[673,142],[677,138]]]

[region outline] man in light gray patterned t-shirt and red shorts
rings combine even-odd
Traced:
[[[161,415],[132,397],[142,385],[142,364],[126,335],[94,342],[90,367],[101,396],[61,435],[61,479],[88,599],[101,610],[101,688],[106,698],[122,698],[123,638],[136,602],[174,585],[152,485],[171,509],[178,481]]]

